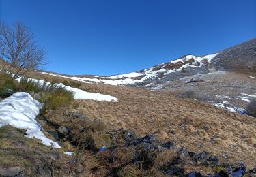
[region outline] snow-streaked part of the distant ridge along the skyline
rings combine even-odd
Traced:
[[[136,71],[128,74],[118,74],[114,76],[90,76],[90,77],[79,77],[79,76],[63,76],[61,74],[53,74],[42,72],[42,74],[48,74],[51,76],[57,76],[62,78],[70,78],[72,80],[77,80],[84,83],[103,83],[111,85],[127,85],[127,84],[137,84],[141,83],[149,78],[160,79],[170,73],[180,72],[182,69],[187,67],[202,67],[206,65],[205,63],[210,63],[210,61],[216,57],[216,54],[209,54],[201,57],[194,55],[186,55],[175,61],[170,61],[167,63],[162,63],[142,71]]]

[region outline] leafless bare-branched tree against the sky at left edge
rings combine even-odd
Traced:
[[[33,33],[22,22],[11,27],[0,23],[0,58],[7,61],[2,70],[17,78],[27,71],[46,64],[44,49],[35,41]]]

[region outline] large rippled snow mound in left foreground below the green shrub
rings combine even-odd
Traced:
[[[0,127],[11,125],[18,129],[26,129],[27,138],[37,138],[46,146],[60,148],[57,142],[46,138],[42,127],[36,122],[42,104],[33,99],[29,93],[18,92],[0,102]]]

